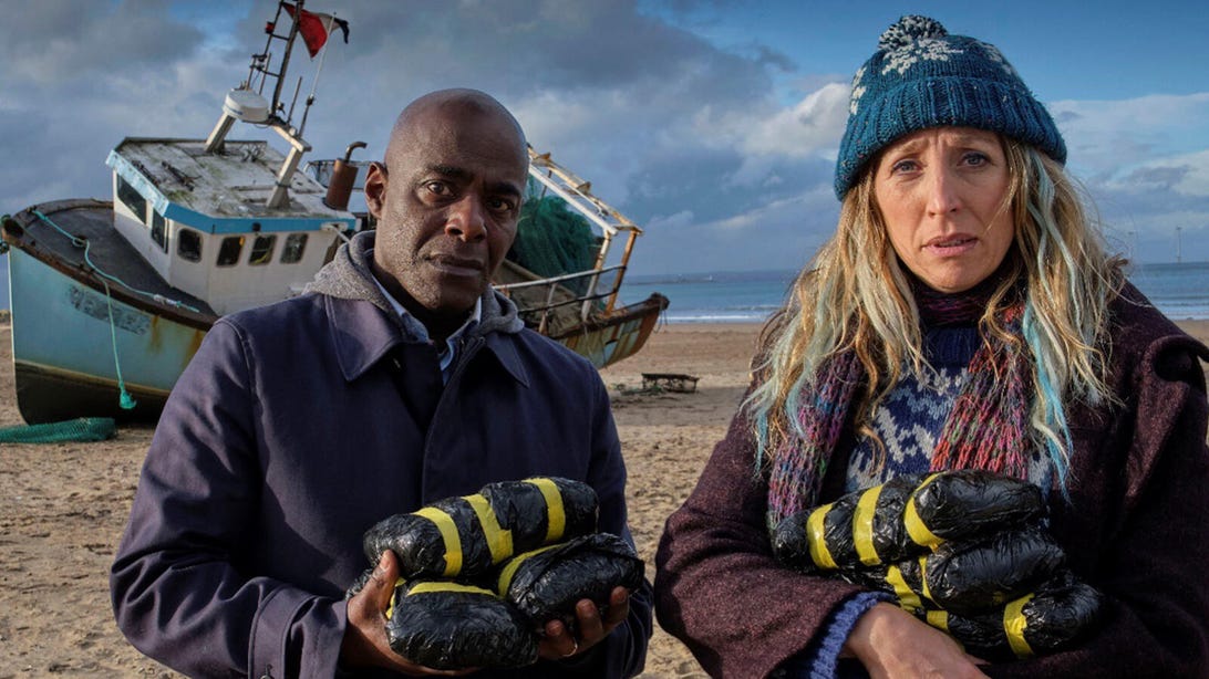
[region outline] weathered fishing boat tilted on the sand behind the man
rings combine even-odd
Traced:
[[[283,104],[295,39],[301,34],[313,57],[335,28],[347,31],[302,5],[278,2],[264,52],[226,95],[208,138],[128,138],[106,161],[111,201],[58,201],[4,217],[25,422],[154,420],[218,317],[300,294],[342,239],[372,228],[348,209],[358,172],[351,155],[364,144],[351,144],[341,159],[302,166],[313,97],[296,126],[294,104]],[[287,152],[229,139],[237,122],[274,130]],[[588,245],[585,269],[536,273],[510,262],[501,289],[534,329],[597,366],[615,362],[642,347],[667,306],[660,295],[631,307],[618,300],[641,230],[548,156],[533,157],[534,204],[557,196],[602,233]],[[620,259],[611,263],[618,240]]]

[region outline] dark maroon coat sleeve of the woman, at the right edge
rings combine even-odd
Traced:
[[[1186,337],[1153,342],[1123,381],[1132,406],[1116,431],[1123,469],[1089,581],[1107,600],[1103,625],[1065,652],[994,667],[995,677],[1204,677],[1209,667],[1209,449],[1205,382]],[[1109,446],[1106,448],[1111,448]],[[1101,451],[1082,451],[1092,455]],[[1111,459],[1111,458],[1110,458]],[[1093,460],[1100,465],[1107,459]],[[1094,474],[1088,474],[1094,476]],[[1074,486],[1072,512],[1081,488]],[[1120,509],[1112,509],[1120,507]],[[1088,530],[1091,532],[1091,530]]]

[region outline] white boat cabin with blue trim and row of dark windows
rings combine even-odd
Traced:
[[[324,187],[300,172],[289,173],[280,207],[267,207],[284,163],[265,141],[225,140],[207,152],[203,140],[128,138],[105,161],[114,227],[215,314],[296,295],[357,219],[329,208]]]

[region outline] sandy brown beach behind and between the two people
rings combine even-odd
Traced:
[[[1209,341],[1209,321],[1180,324]],[[629,466],[630,522],[648,574],[664,520],[692,491],[747,383],[757,325],[667,325],[640,355],[602,371]],[[22,424],[10,327],[0,321],[0,426]],[[693,393],[642,389],[642,373],[699,378]],[[174,677],[122,638],[108,569],[151,437],[122,428],[102,443],[0,447],[0,679]],[[705,677],[656,631],[646,678]]]

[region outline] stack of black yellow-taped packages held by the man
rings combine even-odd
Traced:
[[[575,631],[580,599],[603,611],[614,587],[642,584],[642,559],[621,538],[598,533],[597,515],[586,483],[537,477],[378,522],[363,547],[370,563],[386,550],[399,561],[387,610],[391,648],[434,669],[536,662],[548,621]]]

